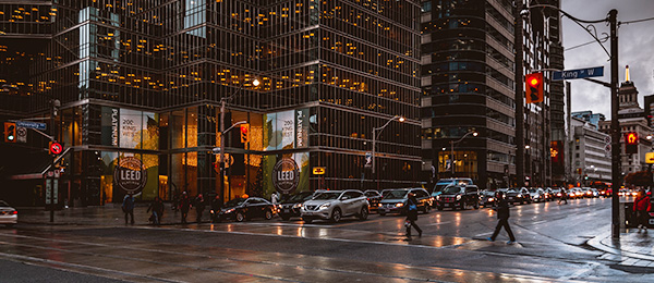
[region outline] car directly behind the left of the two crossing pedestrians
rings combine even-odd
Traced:
[[[407,201],[409,192],[415,194],[417,199],[417,211],[428,213],[432,209],[433,198],[426,189],[422,187],[415,188],[396,188],[384,192],[384,198],[379,201],[377,213],[386,216],[387,213],[407,213]]]

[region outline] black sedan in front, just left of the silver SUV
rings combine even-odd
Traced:
[[[233,219],[243,222],[253,218],[270,220],[275,216],[275,205],[261,197],[234,198],[227,201],[220,209],[218,221]]]

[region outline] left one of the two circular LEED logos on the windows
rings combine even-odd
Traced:
[[[113,171],[113,180],[126,193],[138,194],[147,182],[147,170],[143,168],[143,162],[134,157],[121,158]]]

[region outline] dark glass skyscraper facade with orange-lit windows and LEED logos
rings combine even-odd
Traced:
[[[31,101],[14,119],[49,116],[50,101],[61,101],[53,133],[70,148],[62,198],[104,204],[186,190],[227,200],[417,184],[414,1],[34,2],[48,15],[44,44],[34,47],[29,76],[8,77],[25,86],[12,95]],[[36,12],[0,5],[5,19]],[[0,37],[15,40],[7,54],[41,30],[0,24]],[[221,136],[221,121],[246,126]],[[32,136],[26,145],[47,144]],[[214,150],[221,138],[225,171]]]

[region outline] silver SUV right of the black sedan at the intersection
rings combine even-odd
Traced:
[[[368,207],[366,197],[359,190],[326,190],[304,201],[300,213],[306,223],[315,219],[339,222],[341,218],[351,216],[366,220],[370,213]]]

